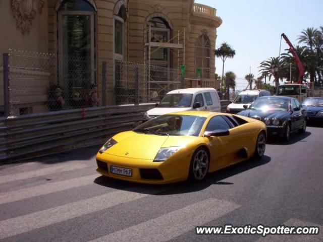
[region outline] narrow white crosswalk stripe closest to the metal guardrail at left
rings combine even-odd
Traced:
[[[50,164],[48,166],[49,167],[47,168],[42,168],[37,170],[31,170],[31,171],[20,172],[20,173],[9,174],[9,175],[2,175],[0,176],[0,184],[9,183],[15,180],[23,180],[23,179],[28,179],[32,177],[58,173],[62,171],[83,169],[85,167],[88,167],[89,165],[82,164],[80,162],[67,162],[64,164]]]

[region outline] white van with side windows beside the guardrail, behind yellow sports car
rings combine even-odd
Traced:
[[[155,108],[148,110],[144,120],[181,111],[221,111],[218,92],[214,88],[186,88],[168,92]]]

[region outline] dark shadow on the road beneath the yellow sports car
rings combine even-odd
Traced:
[[[240,162],[230,167],[209,173],[205,179],[197,182],[182,181],[181,183],[170,185],[147,185],[136,184],[128,181],[117,180],[110,177],[99,176],[94,180],[94,183],[118,190],[125,190],[129,192],[143,193],[149,195],[171,195],[171,194],[183,194],[192,193],[204,190],[211,185],[230,186],[233,183],[222,181],[228,177],[239,174],[246,170],[253,169],[257,166],[265,165],[271,161],[268,156],[263,156],[260,160],[251,158],[249,160]]]

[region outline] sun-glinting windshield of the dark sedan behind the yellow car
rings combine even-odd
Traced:
[[[288,111],[289,99],[278,97],[258,98],[249,109],[261,111]]]

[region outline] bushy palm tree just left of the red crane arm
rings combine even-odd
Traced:
[[[281,70],[283,69],[285,63],[279,57],[270,57],[266,61],[260,63],[259,72],[262,74],[267,74],[269,80],[274,77],[275,87],[279,85],[279,79],[281,78]],[[278,70],[275,70],[278,69]]]

